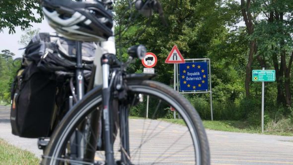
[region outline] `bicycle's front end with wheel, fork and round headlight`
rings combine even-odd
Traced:
[[[194,107],[169,86],[151,81],[154,75],[126,72],[134,59],[144,57],[144,46],[132,46],[128,54],[126,63],[113,54],[102,55],[102,85],[87,92],[62,119],[41,164],[210,164],[207,136]],[[182,125],[130,116],[144,110],[146,95],[152,119],[172,108]],[[81,139],[73,142],[76,131]],[[73,148],[79,149],[77,154]]]

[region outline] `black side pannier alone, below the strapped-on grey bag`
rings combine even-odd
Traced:
[[[11,88],[12,134],[25,138],[47,137],[56,94],[52,74],[41,72],[32,62],[18,70]]]

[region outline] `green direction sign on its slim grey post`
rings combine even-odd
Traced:
[[[264,109],[265,109],[265,82],[276,81],[275,70],[252,70],[252,81],[262,82],[262,102],[261,102],[261,132],[264,133]]]

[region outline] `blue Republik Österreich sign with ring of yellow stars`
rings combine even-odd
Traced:
[[[209,89],[208,62],[179,64],[180,91],[207,91]]]

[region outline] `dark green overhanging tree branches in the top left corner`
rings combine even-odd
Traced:
[[[15,33],[15,26],[24,30],[32,22],[40,23],[43,19],[39,0],[0,0],[0,6],[0,32],[7,27],[9,34]]]

